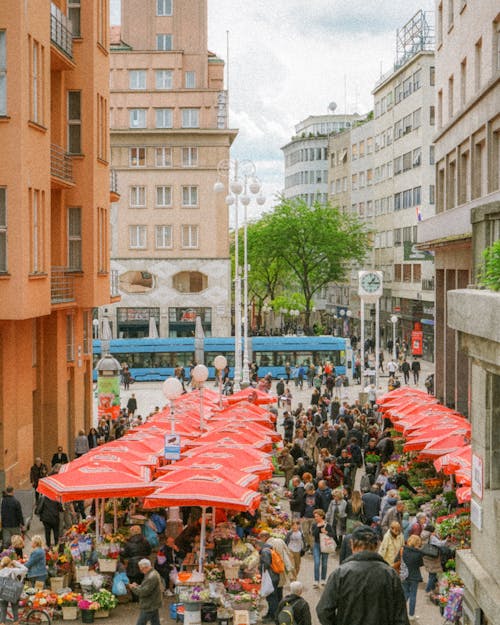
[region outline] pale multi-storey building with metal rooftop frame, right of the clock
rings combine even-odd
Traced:
[[[418,14],[415,19],[419,19]],[[423,332],[423,355],[434,357],[434,263],[417,250],[417,226],[434,214],[434,53],[432,43],[406,54],[383,77],[374,96],[374,266],[383,272],[380,301],[383,339],[397,334],[408,343]]]

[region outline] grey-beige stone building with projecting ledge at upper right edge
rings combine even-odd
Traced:
[[[418,239],[435,255],[436,394],[469,414],[470,366],[447,293],[476,282],[484,248],[500,237],[498,2],[437,2],[436,40],[436,214]]]

